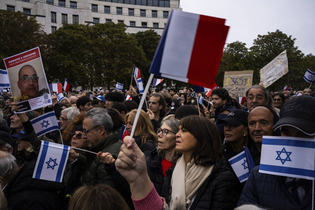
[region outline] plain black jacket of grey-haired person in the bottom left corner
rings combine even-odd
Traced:
[[[63,189],[60,182],[33,179],[36,162],[25,162],[9,181],[3,192],[10,209],[59,210],[57,191]]]

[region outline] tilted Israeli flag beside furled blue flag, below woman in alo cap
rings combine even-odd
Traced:
[[[240,182],[246,181],[249,177],[249,170],[245,151],[229,159],[229,163]]]

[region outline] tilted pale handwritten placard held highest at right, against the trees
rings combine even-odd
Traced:
[[[260,81],[267,88],[273,82],[289,72],[287,50],[284,50],[260,70]]]

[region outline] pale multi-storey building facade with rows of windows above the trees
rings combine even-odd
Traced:
[[[182,10],[179,0],[1,0],[0,9],[35,16],[51,33],[63,23],[124,23],[126,32],[154,29],[162,35],[172,9]]]

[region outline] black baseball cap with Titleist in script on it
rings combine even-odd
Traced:
[[[297,128],[307,135],[315,135],[315,98],[300,95],[285,102],[280,109],[280,119],[273,129],[285,125]]]

